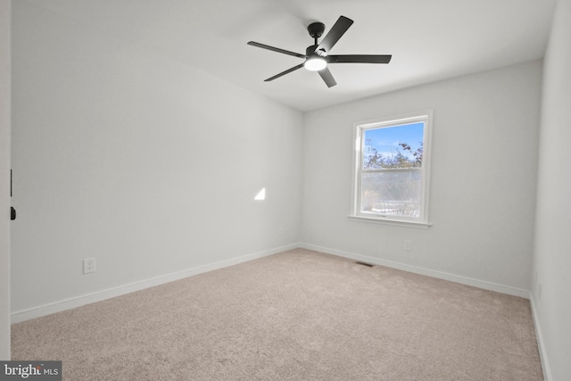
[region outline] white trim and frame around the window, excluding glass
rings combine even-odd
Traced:
[[[393,115],[388,117],[377,118],[375,120],[361,120],[353,123],[353,161],[352,161],[352,206],[349,219],[360,222],[372,222],[393,226],[401,226],[407,228],[428,228],[430,223],[429,211],[429,189],[430,189],[430,152],[432,149],[432,120],[433,111],[425,110],[422,112],[410,112],[407,114]],[[369,128],[381,128],[384,126],[396,124],[408,124],[418,121],[425,123],[424,128],[424,145],[422,153],[422,189],[420,200],[421,218],[412,219],[410,217],[385,216],[382,214],[361,213],[360,212],[360,165],[362,147],[363,130]]]

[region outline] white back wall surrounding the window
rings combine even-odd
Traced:
[[[542,62],[528,62],[308,112],[302,242],[525,295],[541,83]],[[402,228],[347,219],[353,122],[426,109],[434,110],[433,226]],[[405,239],[412,241],[410,253],[403,251]]]

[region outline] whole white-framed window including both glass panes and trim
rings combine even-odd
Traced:
[[[356,123],[352,218],[428,226],[432,111]]]

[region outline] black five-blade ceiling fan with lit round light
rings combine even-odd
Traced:
[[[326,37],[323,37],[321,43],[318,44],[318,38],[323,35],[325,31],[325,25],[322,22],[312,22],[307,30],[310,32],[310,36],[314,39],[314,45],[308,46],[305,49],[305,54],[299,54],[295,52],[290,52],[289,50],[280,49],[278,47],[260,44],[258,42],[250,41],[248,45],[261,47],[262,49],[268,49],[273,52],[293,55],[294,57],[299,57],[305,61],[291,69],[282,71],[281,73],[266,79],[266,82],[274,80],[284,76],[285,74],[291,73],[294,70],[301,69],[304,67],[307,70],[317,71],[321,79],[325,81],[327,87],[334,87],[337,82],[333,78],[331,71],[327,68],[329,63],[388,63],[391,61],[392,55],[379,55],[379,54],[345,54],[345,55],[333,55],[328,54],[329,50],[339,41],[339,38],[351,27],[353,21],[347,17],[340,16],[335,22],[333,28],[329,30]]]

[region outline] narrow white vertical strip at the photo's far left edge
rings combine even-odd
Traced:
[[[11,1],[0,0],[0,360],[10,360],[11,8]]]

